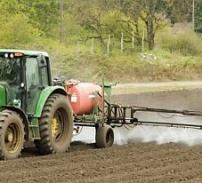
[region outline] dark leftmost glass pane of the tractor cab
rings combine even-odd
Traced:
[[[20,58],[0,57],[0,81],[8,84],[20,82]]]

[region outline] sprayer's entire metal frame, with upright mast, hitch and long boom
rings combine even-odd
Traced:
[[[105,96],[106,94],[106,96]],[[122,127],[128,125],[135,127],[137,125],[145,126],[164,126],[175,128],[192,128],[202,130],[202,123],[188,124],[179,122],[157,122],[157,121],[140,121],[136,117],[136,112],[150,112],[150,113],[169,113],[169,114],[181,114],[185,116],[202,116],[202,111],[192,110],[170,110],[162,108],[150,108],[141,106],[121,106],[111,103],[111,86],[104,85],[102,81],[102,94],[98,93],[102,97],[102,107],[98,106],[92,114],[75,116],[75,126],[88,126],[96,127],[98,125],[108,124],[111,127]],[[106,99],[107,98],[107,99]]]

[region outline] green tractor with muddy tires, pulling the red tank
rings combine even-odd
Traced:
[[[0,159],[14,159],[25,142],[41,154],[65,152],[73,133],[66,91],[52,84],[45,52],[0,49]]]

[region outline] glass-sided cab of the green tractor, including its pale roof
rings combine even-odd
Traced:
[[[50,85],[47,53],[0,50],[0,86],[2,86],[0,90],[3,88],[0,93],[5,92],[4,105],[14,106],[33,114],[41,90]]]

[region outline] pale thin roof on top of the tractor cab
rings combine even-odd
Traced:
[[[43,55],[45,57],[48,57],[48,53],[42,52],[42,51],[31,51],[31,50],[16,50],[16,49],[0,49],[0,53],[15,53],[20,52],[23,53],[26,56],[38,56]]]

